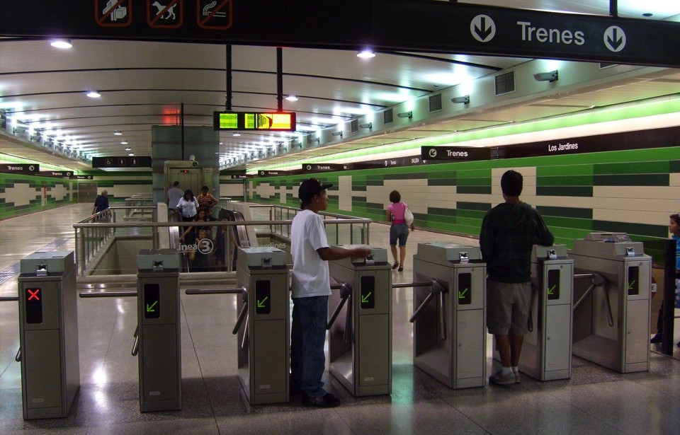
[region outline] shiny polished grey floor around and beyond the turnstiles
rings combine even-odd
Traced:
[[[72,223],[90,204],[0,221],[0,294],[16,294],[13,265],[35,250],[74,248]],[[373,224],[373,245],[387,247],[387,226]],[[475,240],[415,231],[404,272],[412,280],[416,244]],[[568,381],[522,375],[510,388],[450,390],[412,366],[412,290],[396,289],[392,395],[353,398],[334,378],[343,405],[302,407],[299,398],[251,406],[237,381],[236,296],[182,295],[182,410],[140,413],[134,298],[79,299],[81,388],[65,419],[22,418],[16,302],[0,302],[0,434],[678,434],[680,361],[652,352],[646,373],[620,374],[577,357]],[[676,330],[678,328],[676,327]],[[487,346],[490,349],[490,346]],[[487,374],[492,373],[487,359]]]

